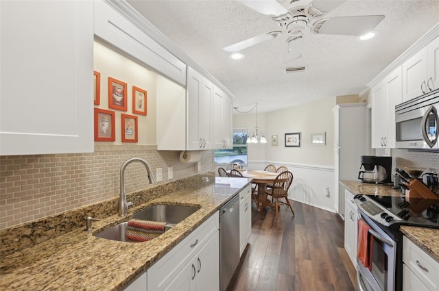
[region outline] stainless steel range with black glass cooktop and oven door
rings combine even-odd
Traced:
[[[358,194],[355,203],[359,219],[370,227],[370,260],[364,266],[357,257],[357,281],[360,291],[402,290],[401,225],[439,228],[439,197],[399,197]]]

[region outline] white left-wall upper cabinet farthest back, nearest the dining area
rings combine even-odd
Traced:
[[[228,95],[213,86],[213,148],[233,148],[232,125],[233,101]]]

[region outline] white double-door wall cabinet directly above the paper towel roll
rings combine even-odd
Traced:
[[[213,84],[188,67],[187,150],[212,149]]]

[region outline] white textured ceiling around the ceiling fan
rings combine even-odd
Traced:
[[[242,51],[244,60],[228,59],[223,47],[279,27],[237,1],[128,0],[180,49],[235,95],[234,106],[259,112],[317,99],[358,94],[366,84],[439,22],[438,0],[348,0],[325,17],[385,16],[379,35],[354,36],[305,31],[302,58],[283,64],[286,35]],[[286,66],[307,71],[285,74]]]

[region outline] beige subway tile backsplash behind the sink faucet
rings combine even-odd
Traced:
[[[162,168],[163,181],[157,184],[198,173],[196,163],[180,162],[180,151],[156,151],[151,146],[111,145],[97,146],[94,153],[0,156],[0,229],[118,197],[120,168],[131,157],[145,159],[154,176]],[[213,151],[202,151],[200,162],[200,173],[215,170]],[[174,174],[170,180],[168,167]],[[125,177],[127,194],[150,186],[141,163],[130,164]]]

